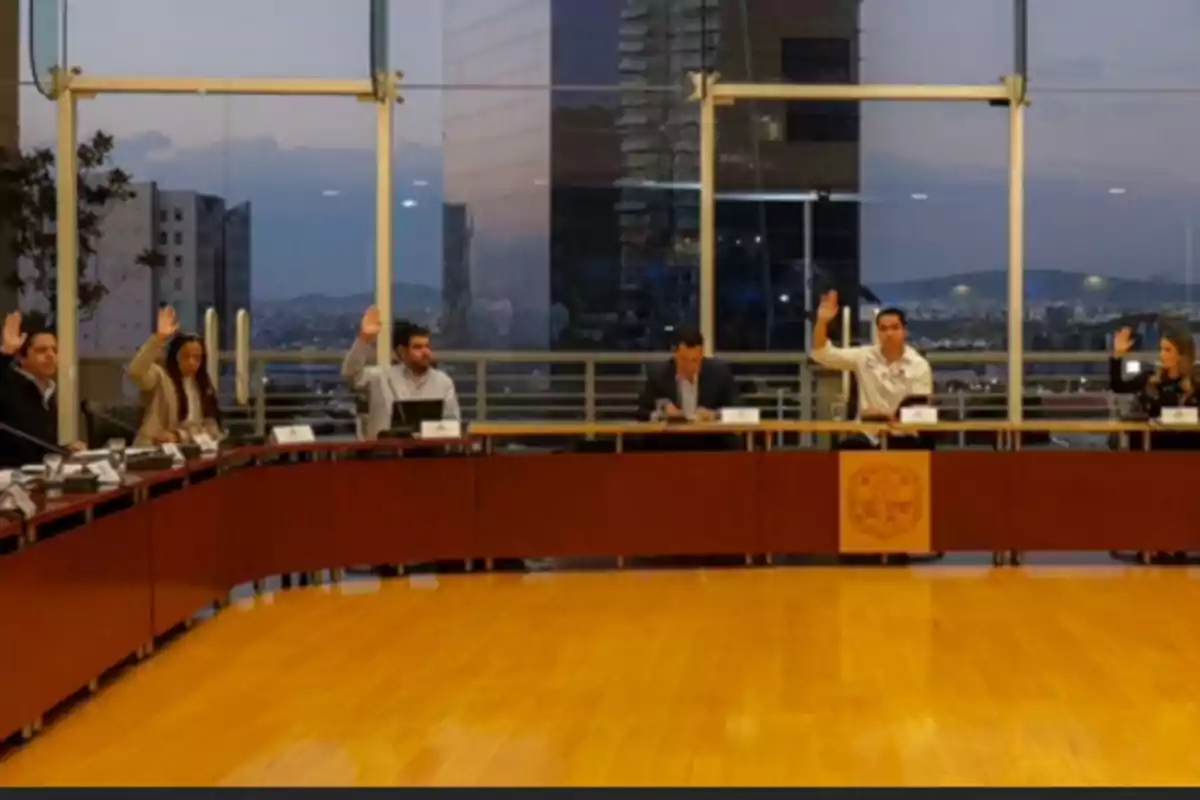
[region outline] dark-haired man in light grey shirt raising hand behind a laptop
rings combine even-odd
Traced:
[[[376,439],[391,427],[391,409],[397,401],[439,399],[442,416],[461,420],[454,380],[433,366],[430,331],[412,323],[397,323],[392,344],[400,363],[388,368],[368,367],[374,341],[383,325],[374,306],[362,314],[359,336],[342,361],[342,378],[356,391],[367,392],[367,425],[364,435]]]

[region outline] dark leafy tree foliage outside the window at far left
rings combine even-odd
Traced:
[[[108,294],[109,288],[89,275],[100,241],[104,235],[107,213],[120,203],[137,197],[132,176],[113,166],[113,137],[96,131],[77,149],[78,175],[78,275],[79,312],[88,317]],[[6,230],[10,252],[20,270],[8,276],[10,285],[22,295],[44,297],[53,317],[58,309],[58,191],[54,151],[37,148],[29,151],[0,149],[0,225]],[[166,257],[155,248],[143,251],[134,261],[157,270]]]

